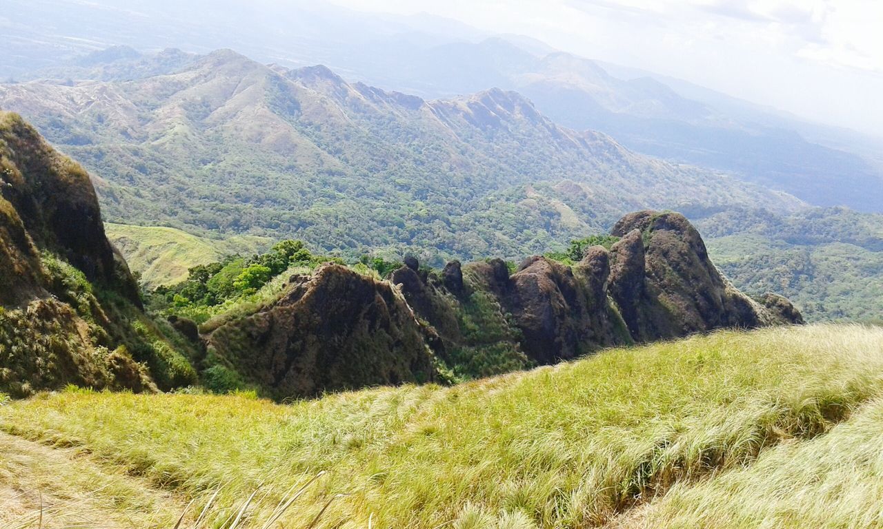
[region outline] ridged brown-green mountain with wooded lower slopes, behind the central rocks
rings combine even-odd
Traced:
[[[563,128],[517,93],[424,101],[231,51],[131,81],[0,86],[93,171],[107,220],[357,253],[517,257],[644,207],[793,197]]]

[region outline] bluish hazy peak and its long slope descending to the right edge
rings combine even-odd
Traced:
[[[536,55],[500,38],[418,49],[404,61],[386,76],[365,71],[363,78],[429,97],[487,86],[515,90],[555,123],[599,130],[640,153],[735,172],[814,205],[883,212],[879,150],[857,133],[802,123],[677,79],[614,77],[595,61]]]

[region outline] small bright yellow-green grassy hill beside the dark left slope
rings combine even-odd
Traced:
[[[237,253],[260,253],[272,245],[267,237],[242,235],[216,240],[174,227],[106,223],[104,229],[132,272],[140,272],[142,283],[151,288],[186,279],[192,266],[208,265]]]

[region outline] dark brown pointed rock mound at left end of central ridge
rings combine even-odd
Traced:
[[[323,265],[278,301],[219,327],[208,346],[287,398],[434,381],[433,338],[389,283]]]

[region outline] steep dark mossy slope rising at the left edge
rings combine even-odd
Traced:
[[[194,379],[141,311],[87,173],[19,115],[0,113],[0,391]]]

